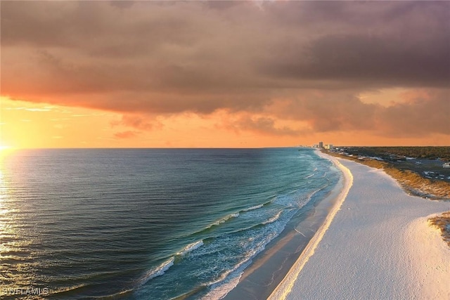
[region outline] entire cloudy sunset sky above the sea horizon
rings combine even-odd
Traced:
[[[0,148],[450,145],[450,1],[4,1]]]

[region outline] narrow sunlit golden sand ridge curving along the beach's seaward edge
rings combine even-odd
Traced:
[[[331,209],[330,214],[326,217],[325,221],[317,230],[316,234],[311,238],[309,243],[307,244],[307,247],[304,248],[302,254],[300,254],[297,261],[295,261],[293,267],[289,270],[288,275],[281,280],[280,284],[274,289],[274,292],[270,294],[270,296],[267,298],[268,300],[284,300],[286,299],[286,296],[290,293],[292,290],[295,280],[297,279],[298,275],[300,274],[300,271],[304,267],[304,265],[307,263],[309,258],[314,255],[314,252],[316,250],[316,247],[318,246],[319,242],[322,240],[323,235],[325,235],[326,230],[328,227],[330,227],[331,222],[333,221],[335,215],[340,210],[340,207],[342,206],[342,203],[344,203],[345,198],[347,197],[347,194],[349,193],[350,188],[353,185],[353,175],[352,172],[347,167],[344,167],[338,159],[335,157],[332,157],[330,155],[325,155],[322,152],[316,152],[317,155],[319,155],[322,158],[328,159],[335,166],[342,171],[342,174],[344,175],[344,186],[342,190],[340,191],[338,195],[338,201],[335,203],[333,209]],[[297,231],[297,230],[296,230]]]

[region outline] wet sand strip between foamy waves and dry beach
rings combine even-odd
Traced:
[[[315,153],[323,159],[330,160],[319,151]],[[336,163],[333,162],[334,167],[337,167]],[[348,182],[348,178],[340,176],[338,183],[325,197],[307,204],[310,208],[293,218],[284,233],[255,256],[252,264],[244,270],[236,287],[221,299],[267,299],[295,266],[295,262],[309,247],[311,240],[323,228],[323,224],[328,222],[330,214],[340,206],[344,198],[342,191]]]

